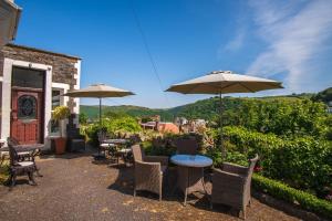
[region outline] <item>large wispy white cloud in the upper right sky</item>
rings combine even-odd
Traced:
[[[301,91],[303,83],[320,74],[319,56],[326,52],[332,35],[332,1],[251,1],[258,34],[268,48],[247,70],[248,74],[271,76],[286,73],[290,91]],[[315,72],[317,71],[317,72]],[[315,76],[313,76],[315,73]],[[323,73],[322,73],[323,74]]]

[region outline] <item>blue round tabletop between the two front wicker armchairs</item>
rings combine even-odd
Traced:
[[[214,161],[201,155],[174,155],[170,161],[185,167],[209,167]]]

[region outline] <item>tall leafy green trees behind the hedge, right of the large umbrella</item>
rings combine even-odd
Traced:
[[[224,125],[242,126],[278,136],[323,137],[328,129],[326,106],[310,99],[242,99],[237,112],[224,113]]]

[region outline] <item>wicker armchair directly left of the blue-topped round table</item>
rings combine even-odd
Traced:
[[[162,200],[163,178],[168,167],[168,157],[145,156],[139,145],[132,146],[135,161],[134,197],[137,190],[148,190],[159,194]]]

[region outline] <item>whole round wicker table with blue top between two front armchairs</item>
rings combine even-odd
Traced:
[[[177,188],[185,194],[184,204],[187,203],[187,196],[193,192],[207,193],[204,182],[204,168],[210,167],[212,160],[201,155],[175,155],[170,161],[177,165]]]

